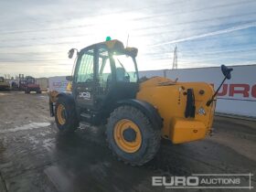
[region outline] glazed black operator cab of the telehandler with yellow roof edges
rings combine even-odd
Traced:
[[[81,114],[97,116],[98,112],[112,110],[116,101],[135,98],[139,88],[136,55],[136,48],[124,48],[118,40],[80,50],[72,77],[72,94]]]

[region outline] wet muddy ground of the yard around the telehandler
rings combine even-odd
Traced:
[[[254,190],[256,123],[216,117],[214,128],[204,141],[164,141],[155,159],[132,167],[112,156],[96,127],[59,134],[46,93],[0,92],[0,191],[174,191],[152,187],[152,176],[248,173]]]

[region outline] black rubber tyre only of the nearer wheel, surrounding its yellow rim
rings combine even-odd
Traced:
[[[142,135],[142,143],[140,148],[134,153],[126,153],[115,142],[114,129],[116,123],[127,119],[132,121],[139,128]],[[130,165],[144,165],[146,162],[153,159],[159,150],[161,141],[161,130],[158,127],[153,127],[149,118],[143,112],[130,105],[118,107],[111,113],[111,116],[106,125],[107,142],[113,155],[116,155],[119,160]]]

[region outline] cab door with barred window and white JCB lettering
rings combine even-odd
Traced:
[[[73,81],[73,95],[77,106],[92,109],[95,92],[95,51],[86,50],[80,53]]]

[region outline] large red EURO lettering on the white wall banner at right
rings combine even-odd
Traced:
[[[252,86],[245,83],[223,84],[222,90],[219,91],[217,96],[229,96],[229,97],[241,96],[244,98],[250,98],[250,97],[256,98],[256,84]]]

